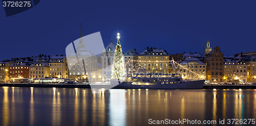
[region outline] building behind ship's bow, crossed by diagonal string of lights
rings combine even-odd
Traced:
[[[206,64],[198,58],[187,57],[178,65],[178,71],[183,79],[205,79]]]

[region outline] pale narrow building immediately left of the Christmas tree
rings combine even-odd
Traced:
[[[107,79],[111,79],[111,71],[112,71],[112,64],[113,58],[115,54],[116,45],[111,42],[108,46],[105,47],[104,50],[101,52],[101,77],[102,81]]]

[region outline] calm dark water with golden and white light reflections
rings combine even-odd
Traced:
[[[82,88],[0,87],[0,125],[150,125],[148,119],[217,120],[216,125],[225,119],[227,125],[228,118],[256,119],[256,90],[110,89],[92,94]]]

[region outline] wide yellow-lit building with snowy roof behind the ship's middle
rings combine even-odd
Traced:
[[[169,74],[169,55],[156,47],[146,48],[138,55],[138,65],[148,74]]]

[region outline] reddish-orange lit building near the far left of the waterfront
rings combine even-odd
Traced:
[[[16,60],[8,68],[9,80],[16,78],[29,78],[29,67],[33,64],[28,60]]]

